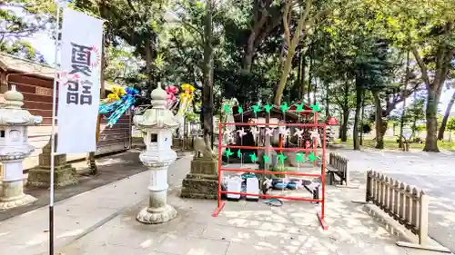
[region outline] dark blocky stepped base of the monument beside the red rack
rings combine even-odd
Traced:
[[[218,162],[207,158],[195,158],[191,170],[182,181],[180,196],[192,199],[216,200],[218,191]]]

